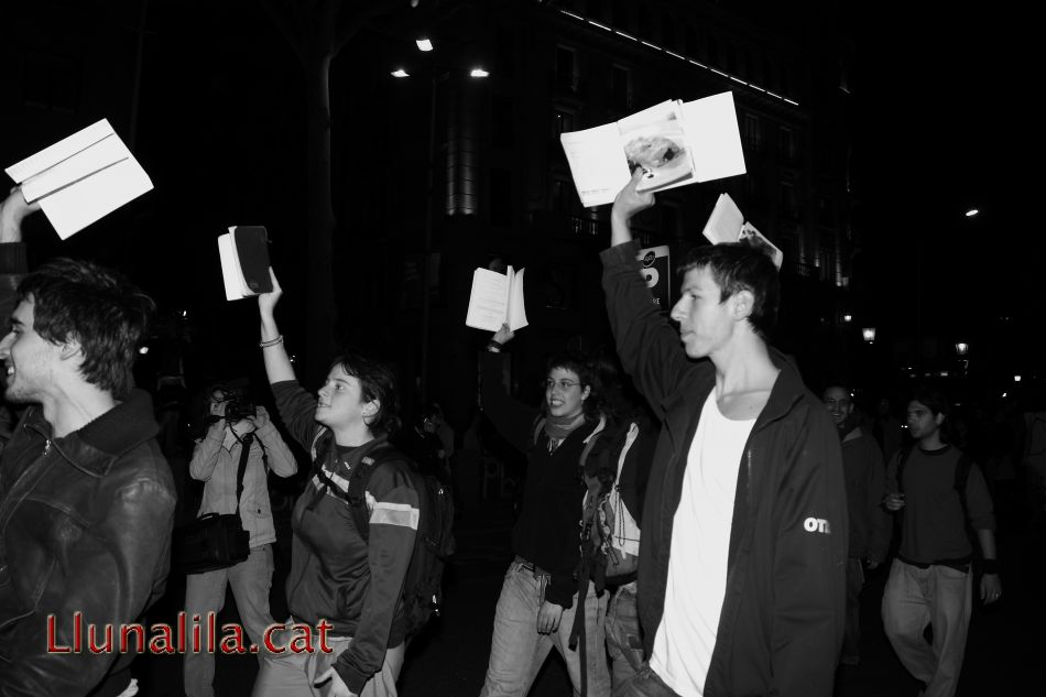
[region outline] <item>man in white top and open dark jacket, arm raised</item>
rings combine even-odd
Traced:
[[[835,426],[766,342],[780,285],[758,248],[684,259],[677,333],[652,308],[629,244],[654,203],[638,181],[614,202],[603,287],[622,363],[665,427],[640,553],[650,662],[614,697],[828,697],[847,547]]]

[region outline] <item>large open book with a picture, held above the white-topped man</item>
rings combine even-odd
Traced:
[[[732,92],[672,99],[615,123],[560,133],[559,142],[587,208],[612,203],[635,167],[643,168],[641,192],[745,172]]]

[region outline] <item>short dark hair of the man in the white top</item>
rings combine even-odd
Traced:
[[[706,244],[687,252],[676,273],[683,276],[693,269],[706,268],[719,286],[720,303],[741,291],[752,294],[749,323],[765,338],[777,322],[781,304],[781,279],[773,260],[748,242]]]

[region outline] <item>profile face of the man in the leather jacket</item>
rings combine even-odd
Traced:
[[[11,326],[0,340],[7,386],[4,396],[15,403],[39,402],[54,385],[54,369],[61,361],[62,347],[47,341],[33,328],[32,296],[23,300],[11,314]]]

